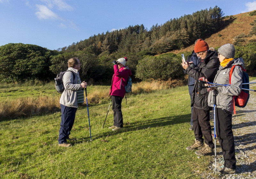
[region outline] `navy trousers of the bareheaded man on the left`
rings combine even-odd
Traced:
[[[67,142],[67,137],[70,135],[70,131],[73,127],[76,117],[76,107],[68,107],[61,105],[61,122],[59,131],[59,144]]]

